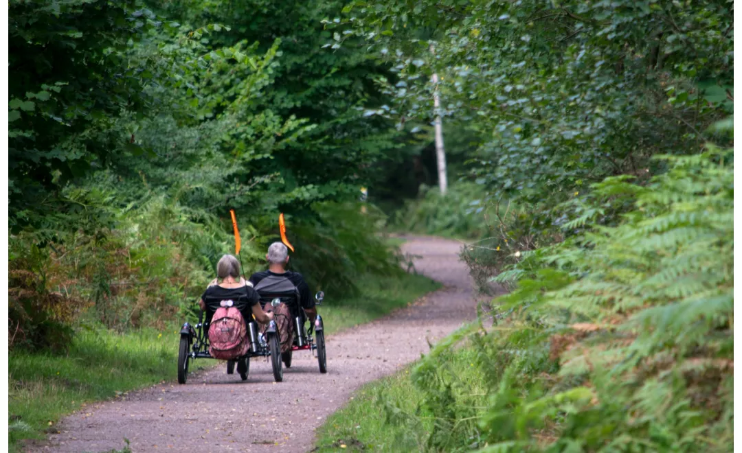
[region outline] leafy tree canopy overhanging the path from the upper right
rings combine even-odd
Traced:
[[[495,199],[554,207],[605,176],[646,182],[665,168],[652,156],[711,138],[732,98],[730,5],[358,1],[326,25],[393,65],[385,116],[482,131],[467,173]]]

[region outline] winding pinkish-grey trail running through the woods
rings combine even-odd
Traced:
[[[35,452],[308,452],[315,429],[370,380],[418,359],[431,343],[472,320],[476,301],[459,242],[407,237],[403,251],[418,256],[418,272],[442,282],[441,290],[373,323],[327,337],[327,374],[306,351],[294,354],[274,383],[270,364],[251,362],[249,379],[225,366],[191,375],[72,414]],[[332,303],[328,294],[326,304]],[[321,308],[320,308],[321,311]],[[173,343],[173,347],[175,343]],[[90,414],[90,415],[88,415]]]

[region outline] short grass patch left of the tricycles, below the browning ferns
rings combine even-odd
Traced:
[[[95,401],[125,397],[125,392],[134,388],[172,380],[177,372],[174,337],[173,331],[154,329],[125,334],[82,330],[63,356],[10,352],[11,451],[18,448],[19,440],[56,432],[56,422],[65,414]]]

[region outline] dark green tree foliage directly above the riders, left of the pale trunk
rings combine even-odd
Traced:
[[[307,214],[306,209],[316,201],[357,199],[359,188],[377,177],[375,162],[386,159],[398,146],[400,134],[392,122],[363,116],[365,105],[385,102],[372,79],[387,73],[384,65],[361,51],[322,48],[332,33],[324,30],[321,19],[340,13],[341,7],[339,1],[307,5],[263,0],[239,7],[223,0],[164,7],[163,13],[187,24],[229,24],[231,30],[209,39],[207,50],[250,42],[255,43],[253,51],[260,53],[277,43],[272,85],[252,96],[249,108],[277,118],[295,117],[307,127],[291,140],[283,139],[283,131],[266,134],[280,138],[283,146],[269,155],[257,153],[263,159],[244,168],[252,176],[280,175],[280,182],[266,190],[272,193],[266,209],[278,205],[288,214]],[[260,130],[255,126],[249,125]],[[237,147],[250,146],[252,140],[246,136],[235,142]]]

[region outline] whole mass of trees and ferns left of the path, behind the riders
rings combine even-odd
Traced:
[[[63,350],[88,318],[122,331],[193,314],[233,250],[229,208],[246,273],[281,211],[313,286],[400,272],[378,216],[344,205],[398,146],[362,116],[384,67],[321,50],[339,4],[227,3],[11,4],[13,345]]]

